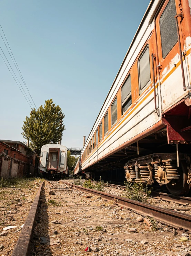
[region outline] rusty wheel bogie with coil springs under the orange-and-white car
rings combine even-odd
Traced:
[[[176,153],[155,153],[129,160],[125,168],[128,181],[145,185],[165,185],[173,195],[187,195],[191,186],[190,156]]]

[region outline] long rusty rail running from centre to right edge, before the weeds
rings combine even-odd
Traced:
[[[97,191],[94,189],[73,185],[64,182],[63,180],[60,181],[64,184],[67,184],[68,186],[74,187],[86,193],[101,196],[102,198],[105,198],[107,200],[115,200],[118,205],[131,209],[133,212],[138,213],[142,216],[153,217],[156,221],[161,222],[167,226],[173,227],[178,230],[185,229],[191,231],[191,215],[189,214],[179,213],[152,204],[142,203],[128,198]]]

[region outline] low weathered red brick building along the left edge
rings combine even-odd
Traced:
[[[0,177],[35,175],[36,152],[20,141],[0,140]]]

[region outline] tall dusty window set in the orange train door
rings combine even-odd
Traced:
[[[164,59],[178,41],[174,16],[177,15],[174,0],[170,0],[160,17],[162,58]]]

